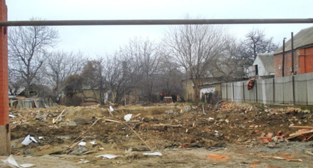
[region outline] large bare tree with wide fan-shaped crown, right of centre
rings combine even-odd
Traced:
[[[196,104],[199,102],[202,78],[208,74],[212,58],[223,51],[225,40],[223,29],[212,25],[172,27],[166,35],[168,54],[184,68],[194,83]]]

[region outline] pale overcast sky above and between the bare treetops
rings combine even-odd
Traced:
[[[180,19],[187,13],[202,18],[309,18],[313,0],[7,0],[9,20]],[[253,28],[264,29],[277,42],[313,24],[225,25],[238,38]],[[159,40],[168,25],[56,26],[58,49],[80,50],[87,56],[112,53],[134,36]]]

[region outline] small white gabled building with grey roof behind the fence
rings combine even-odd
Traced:
[[[248,67],[250,78],[274,77],[274,72],[274,55],[271,53],[258,53],[253,65]]]

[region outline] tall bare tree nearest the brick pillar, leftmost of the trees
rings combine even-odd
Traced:
[[[8,35],[9,66],[25,81],[26,95],[43,65],[47,48],[57,42],[57,30],[47,26],[10,27]]]

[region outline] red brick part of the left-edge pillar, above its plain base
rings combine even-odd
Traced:
[[[8,20],[7,11],[6,0],[0,0],[0,20]],[[0,125],[9,123],[8,35],[6,31],[6,27],[0,27]]]

